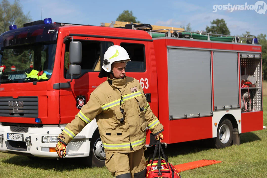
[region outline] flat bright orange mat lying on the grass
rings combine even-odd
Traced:
[[[198,161],[193,161],[189,163],[183,163],[183,164],[178,164],[175,165],[175,169],[178,170],[178,172],[190,170],[190,169],[195,169],[203,166],[208,166],[211,164],[217,164],[221,163],[222,161],[216,161],[216,160],[198,160]]]

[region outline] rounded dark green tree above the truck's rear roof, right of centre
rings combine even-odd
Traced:
[[[224,21],[224,19],[213,20],[210,27],[206,27],[207,33],[230,35],[230,31]]]

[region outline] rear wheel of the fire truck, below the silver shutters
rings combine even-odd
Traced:
[[[223,120],[217,129],[217,138],[215,138],[216,148],[225,148],[233,144],[233,125],[230,120]]]

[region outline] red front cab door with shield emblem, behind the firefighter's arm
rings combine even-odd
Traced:
[[[75,115],[85,105],[93,90],[107,78],[99,78],[98,74],[103,65],[103,57],[106,50],[116,44],[115,39],[88,38],[73,36],[74,41],[82,43],[81,74],[73,76],[70,88],[60,89],[60,123],[71,122]],[[60,82],[70,81],[69,68],[69,42],[66,41],[62,50]]]

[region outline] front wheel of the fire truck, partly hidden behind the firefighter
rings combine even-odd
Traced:
[[[85,164],[92,167],[105,166],[105,151],[100,139],[98,129],[95,131],[90,143],[90,155],[85,157]]]

